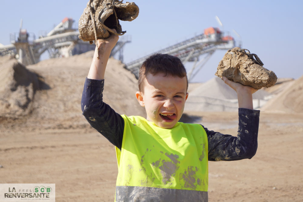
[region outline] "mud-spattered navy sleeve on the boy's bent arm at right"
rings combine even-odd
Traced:
[[[260,111],[239,108],[237,137],[204,129],[208,136],[209,161],[235,161],[252,158],[258,147]]]

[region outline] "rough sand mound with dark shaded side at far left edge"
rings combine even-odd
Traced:
[[[9,57],[0,59],[0,117],[18,118],[29,114],[38,88],[38,76]]]

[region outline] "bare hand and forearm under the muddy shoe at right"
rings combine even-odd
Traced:
[[[226,77],[222,77],[222,80],[237,92],[239,108],[254,109],[252,94],[258,91],[257,89],[230,81]]]

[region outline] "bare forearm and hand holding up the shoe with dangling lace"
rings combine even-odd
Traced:
[[[91,67],[87,78],[102,80],[104,79],[105,68],[112,49],[119,39],[118,35],[111,35],[107,39],[98,39],[98,49],[95,48]],[[99,57],[99,59],[98,59]]]

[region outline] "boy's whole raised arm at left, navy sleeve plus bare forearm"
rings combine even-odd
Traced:
[[[112,144],[121,149],[124,128],[123,118],[103,102],[102,94],[105,68],[118,38],[118,36],[112,35],[107,39],[98,39],[98,49],[96,47],[82,92],[81,108],[88,123]]]

